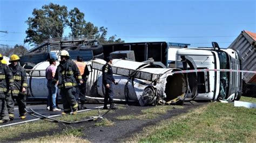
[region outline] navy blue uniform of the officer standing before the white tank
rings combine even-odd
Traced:
[[[114,81],[114,77],[113,77],[113,71],[112,71],[112,68],[109,65],[109,63],[106,63],[102,67],[102,73],[103,73],[103,84],[105,86],[104,103],[107,103],[108,100],[110,102],[113,102],[114,92],[113,92],[113,88],[112,88],[112,82],[115,82],[115,81]],[[106,84],[109,84],[110,87],[107,88]]]

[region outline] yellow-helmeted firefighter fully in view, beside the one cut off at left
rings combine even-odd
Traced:
[[[25,69],[18,64],[19,56],[16,54],[11,55],[10,65],[12,75],[14,75],[14,90],[10,91],[13,101],[17,101],[19,108],[19,117],[26,118],[26,89],[28,88],[28,78],[26,77]],[[10,119],[14,118],[14,105],[8,102],[7,108],[9,111]]]

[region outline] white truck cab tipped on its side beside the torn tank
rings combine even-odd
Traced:
[[[237,53],[231,49],[180,48],[176,52],[175,67],[191,69],[240,69]],[[173,56],[172,56],[173,58]],[[173,61],[170,60],[169,61]],[[172,64],[172,65],[171,65]],[[169,67],[172,67],[170,63]],[[188,98],[195,100],[227,99],[233,101],[241,96],[241,73],[227,71],[200,71],[187,73],[190,87]]]

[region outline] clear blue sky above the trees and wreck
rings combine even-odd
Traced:
[[[242,30],[256,33],[256,2],[244,1],[39,1],[0,0],[0,45],[24,45],[33,9],[49,3],[78,8],[86,22],[107,27],[125,42],[166,41],[227,48]],[[68,35],[65,28],[64,35]],[[24,45],[29,49],[28,44]]]

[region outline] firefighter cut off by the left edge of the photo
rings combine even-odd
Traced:
[[[11,98],[8,94],[9,89],[14,90],[14,78],[10,68],[3,63],[3,56],[0,54],[0,123],[8,122],[8,109],[6,106],[6,98]],[[14,104],[12,102],[12,104]]]

